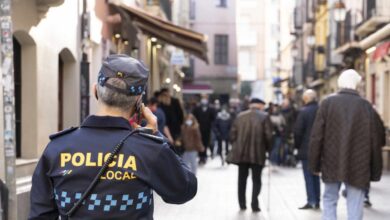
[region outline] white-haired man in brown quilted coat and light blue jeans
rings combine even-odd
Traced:
[[[325,183],[323,219],[337,219],[341,183],[346,185],[348,219],[363,219],[364,191],[382,172],[381,120],[356,91],[361,76],[344,71],[337,94],[325,99],[316,116],[309,145],[309,168]]]

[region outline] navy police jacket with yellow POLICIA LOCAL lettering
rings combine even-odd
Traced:
[[[89,116],[52,136],[33,176],[30,219],[66,219],[113,143],[131,130],[124,118]],[[175,204],[196,194],[196,177],[167,144],[135,134],[115,161],[72,219],[153,219],[153,191]]]

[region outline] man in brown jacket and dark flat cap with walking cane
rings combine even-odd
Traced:
[[[261,190],[261,172],[266,152],[272,143],[272,123],[264,109],[264,101],[252,99],[250,108],[241,112],[230,130],[232,150],[227,162],[238,165],[238,201],[242,210],[246,209],[246,180],[252,170],[252,210],[259,212],[258,196]]]

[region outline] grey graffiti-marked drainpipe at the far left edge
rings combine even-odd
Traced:
[[[0,148],[1,173],[8,188],[8,215],[5,219],[17,219],[15,177],[15,92],[12,45],[11,0],[0,0],[0,75],[2,76],[3,146]]]

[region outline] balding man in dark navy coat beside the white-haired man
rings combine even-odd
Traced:
[[[320,177],[309,171],[307,154],[311,129],[318,110],[316,92],[309,89],[303,93],[305,106],[299,112],[295,122],[294,140],[298,149],[298,159],[302,162],[303,176],[306,183],[307,203],[300,209],[318,209],[320,207]]]

